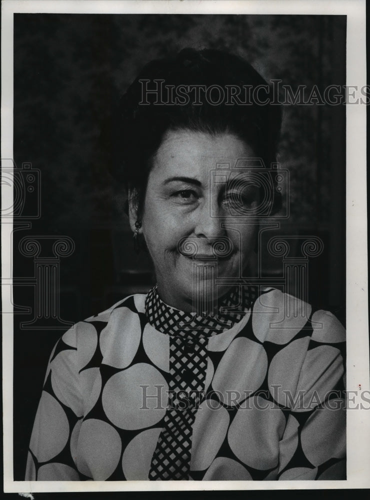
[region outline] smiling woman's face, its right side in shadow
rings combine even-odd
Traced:
[[[258,188],[247,181],[227,182],[224,172],[215,176],[214,169],[216,163],[232,169],[238,158],[248,157],[255,157],[254,151],[231,133],[165,134],[149,173],[140,232],[154,263],[159,295],[167,304],[193,311],[194,298],[209,301],[214,293],[221,296],[232,286],[218,279],[215,291],[209,291],[215,276],[241,276],[254,248],[257,225],[255,218],[253,223],[250,217],[240,217],[240,203],[247,209],[256,206]],[[135,219],[131,207],[133,230]],[[214,252],[217,242],[228,247],[221,257]],[[199,264],[200,273],[195,271]]]

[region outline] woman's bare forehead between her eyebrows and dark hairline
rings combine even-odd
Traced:
[[[169,130],[153,157],[150,177],[165,180],[172,175],[189,175],[199,180],[208,178],[216,163],[230,163],[238,158],[253,157],[254,152],[232,133],[211,135],[189,130]]]

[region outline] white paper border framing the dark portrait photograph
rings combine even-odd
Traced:
[[[13,157],[13,13],[178,13],[346,15],[346,84],[366,84],[364,0],[3,0],[1,2],[1,158]],[[2,189],[2,206],[12,193]],[[346,105],[347,390],[370,390],[367,315],[366,105]],[[1,224],[2,276],[11,276],[12,224]],[[9,283],[7,283],[9,284]],[[11,282],[10,282],[11,284]],[[11,309],[11,286],[2,285],[2,310]],[[164,491],[369,488],[370,411],[347,411],[347,479],[342,481],[14,481],[13,323],[2,316],[3,484],[5,492]]]

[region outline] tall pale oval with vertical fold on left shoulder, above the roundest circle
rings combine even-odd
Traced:
[[[112,331],[121,331],[122,334],[112,334]],[[114,309],[108,325],[100,333],[99,344],[103,363],[114,366],[114,368],[128,366],[136,354],[140,337],[141,328],[138,315],[132,314],[127,307]]]

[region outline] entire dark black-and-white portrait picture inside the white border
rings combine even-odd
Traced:
[[[346,28],[14,13],[14,481],[345,481]]]

